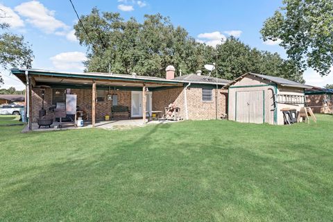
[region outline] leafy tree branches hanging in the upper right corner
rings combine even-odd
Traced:
[[[284,0],[284,6],[264,22],[266,40],[281,40],[299,70],[311,67],[322,76],[333,65],[333,1]]]

